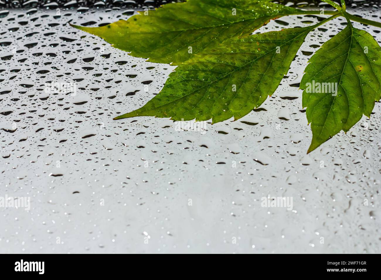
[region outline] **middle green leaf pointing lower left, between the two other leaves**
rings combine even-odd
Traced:
[[[146,105],[114,119],[212,118],[216,123],[234,116],[237,120],[274,93],[304,38],[316,26],[236,38],[208,49],[178,66]]]

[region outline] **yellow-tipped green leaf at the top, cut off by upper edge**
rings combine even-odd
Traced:
[[[74,26],[151,62],[178,65],[229,38],[250,35],[271,19],[300,10],[268,0],[189,0],[142,11],[102,27]]]

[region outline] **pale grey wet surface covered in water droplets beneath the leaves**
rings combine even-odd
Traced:
[[[344,18],[307,36],[259,109],[200,128],[112,120],[153,98],[175,67],[67,23],[104,25],[131,9],[0,10],[0,190],[30,197],[29,211],[0,207],[0,253],[380,252],[380,103],[306,154],[299,83]],[[355,13],[381,17],[375,4]],[[256,32],[316,22],[288,16]],[[361,28],[381,42],[378,28]],[[292,210],[262,207],[268,195],[292,197]]]

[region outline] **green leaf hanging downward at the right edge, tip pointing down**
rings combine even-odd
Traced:
[[[347,132],[363,114],[370,117],[380,99],[380,57],[376,40],[350,22],[312,56],[301,80],[303,107],[307,107],[313,135],[307,153],[341,130]],[[318,85],[324,92],[316,92]],[[337,93],[332,85],[337,85]]]

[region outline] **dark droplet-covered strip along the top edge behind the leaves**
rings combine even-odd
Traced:
[[[242,0],[245,1],[245,0]],[[0,0],[0,8],[139,8],[139,7],[157,7],[165,3],[179,2],[171,0]],[[304,6],[322,6],[320,0],[277,0],[275,3],[283,5],[304,7]],[[336,2],[339,2],[336,0]],[[381,5],[381,0],[346,0],[347,6],[355,8],[356,6],[377,6]],[[290,5],[293,3],[293,5]],[[320,5],[319,5],[320,4]],[[329,4],[327,4],[329,6]],[[325,6],[325,3],[323,3]]]

